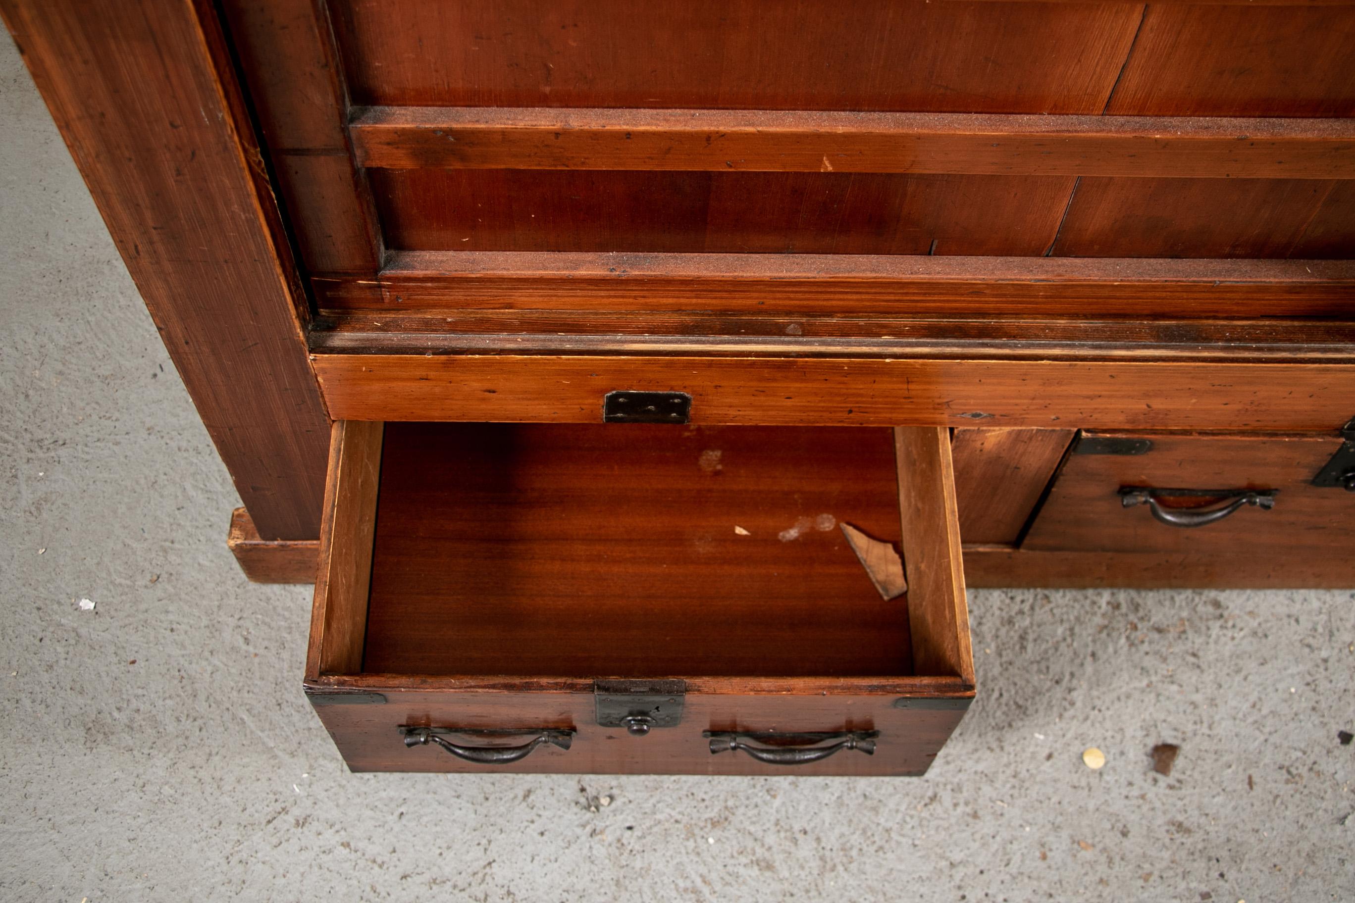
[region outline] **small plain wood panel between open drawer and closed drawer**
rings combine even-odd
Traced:
[[[957,429],[951,455],[961,539],[1015,543],[1072,439],[1072,429]]]

